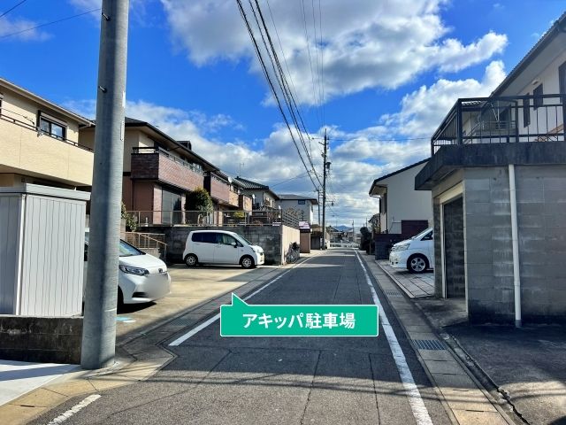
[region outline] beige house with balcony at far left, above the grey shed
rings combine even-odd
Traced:
[[[79,143],[91,122],[0,78],[0,186],[90,187],[93,152]]]

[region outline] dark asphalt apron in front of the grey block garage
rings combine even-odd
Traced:
[[[409,287],[404,274],[387,275]],[[463,298],[412,301],[493,398],[505,398],[532,425],[566,425],[566,327],[471,326]]]

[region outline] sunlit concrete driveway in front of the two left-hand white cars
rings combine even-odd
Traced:
[[[173,265],[169,267],[172,288],[167,297],[154,303],[124,305],[119,309],[116,319],[117,344],[126,344],[188,309],[203,305],[248,282],[266,279],[279,270],[280,267],[277,266],[243,269],[231,266],[187,268],[185,265]]]

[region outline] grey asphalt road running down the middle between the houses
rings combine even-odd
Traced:
[[[432,423],[450,423],[373,283]],[[295,267],[248,303],[373,304],[373,299],[355,252],[331,250]],[[381,324],[378,337],[223,338],[216,321],[168,348],[179,358],[149,381],[99,392],[101,398],[62,423],[425,423],[417,422],[409,405]],[[34,423],[50,422],[83,398]]]

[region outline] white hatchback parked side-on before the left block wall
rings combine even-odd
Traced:
[[[226,230],[194,230],[187,236],[183,259],[187,267],[198,264],[239,264],[252,268],[264,264],[264,250],[245,237]]]

